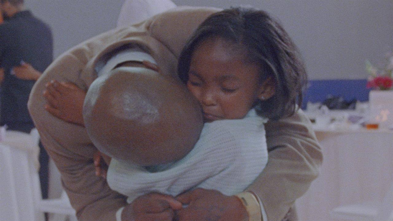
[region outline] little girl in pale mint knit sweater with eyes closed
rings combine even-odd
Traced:
[[[167,165],[146,168],[112,158],[108,184],[129,202],[154,191],[243,191],[267,162],[263,123],[294,113],[307,78],[281,25],[263,11],[243,8],[215,13],[196,29],[180,54],[178,74],[202,107],[200,139]],[[55,90],[49,85],[47,96]]]

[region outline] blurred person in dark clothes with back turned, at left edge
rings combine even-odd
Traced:
[[[0,125],[30,133],[35,126],[27,109],[31,88],[53,60],[47,24],[24,7],[24,0],[0,0]],[[3,72],[3,74],[2,74]],[[48,154],[40,144],[42,197],[48,197]]]

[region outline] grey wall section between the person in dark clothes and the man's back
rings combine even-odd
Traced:
[[[32,13],[50,25],[54,56],[116,27],[124,0],[25,0]]]

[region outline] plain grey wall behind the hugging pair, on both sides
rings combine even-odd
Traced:
[[[53,29],[55,56],[111,29],[124,0],[25,0]],[[153,0],[154,1],[154,0]],[[159,1],[159,0],[157,0]],[[360,79],[364,61],[393,50],[393,0],[173,0],[177,5],[249,5],[279,18],[310,79]]]

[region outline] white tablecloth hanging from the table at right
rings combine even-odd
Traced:
[[[393,131],[319,129],[319,177],[296,202],[300,221],[332,221],[340,205],[378,201],[393,182]]]

